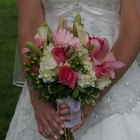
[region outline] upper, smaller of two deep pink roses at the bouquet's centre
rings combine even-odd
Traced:
[[[64,54],[63,48],[53,48],[51,52],[57,64],[66,62],[67,57]]]

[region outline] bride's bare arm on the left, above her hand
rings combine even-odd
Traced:
[[[36,10],[38,9],[38,10]],[[25,56],[21,53],[22,48],[26,47],[26,41],[34,42],[34,36],[37,29],[44,22],[44,13],[40,0],[17,0],[17,12],[18,12],[18,48],[20,54],[20,60],[25,72],[23,63],[26,62]],[[30,89],[30,83],[28,81],[29,93],[33,106],[38,101],[38,92]]]

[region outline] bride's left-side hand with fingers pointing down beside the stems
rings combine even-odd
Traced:
[[[58,139],[57,134],[62,135],[63,132],[63,121],[59,118],[59,113],[52,103],[38,101],[37,105],[34,106],[35,117],[38,124],[39,132],[45,138]]]

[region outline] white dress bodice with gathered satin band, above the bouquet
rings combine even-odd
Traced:
[[[71,24],[80,13],[90,34],[107,37],[112,47],[118,35],[120,0],[42,0],[47,23],[56,28],[60,16]]]

